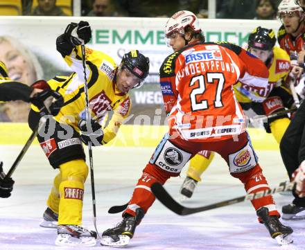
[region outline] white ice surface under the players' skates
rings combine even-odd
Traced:
[[[0,146],[0,159],[7,172],[21,146]],[[87,148],[86,148],[87,151]],[[98,230],[102,233],[121,220],[121,215],[109,215],[107,209],[125,204],[130,199],[141,170],[150,159],[153,148],[94,148],[94,175]],[[270,186],[285,181],[286,170],[277,151],[257,152]],[[173,178],[166,189],[179,199],[179,188],[185,177]],[[12,196],[0,199],[0,250],[72,249],[55,247],[56,231],[39,226],[46,208],[46,198],[57,170],[53,170],[37,145],[31,146],[13,178]],[[83,206],[83,222],[93,229],[90,177],[87,179]],[[244,195],[243,185],[229,175],[223,159],[216,156],[204,173],[203,181],[186,206],[203,206]],[[277,207],[288,204],[290,196],[275,195]],[[189,216],[179,216],[158,201],[137,227],[126,249],[139,250],[267,250],[305,249],[304,220],[284,221],[294,229],[294,243],[280,247],[270,238],[265,226],[259,224],[250,202],[243,202]],[[74,248],[80,249],[80,248]],[[113,249],[96,247],[82,249]]]

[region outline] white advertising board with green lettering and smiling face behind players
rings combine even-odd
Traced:
[[[172,53],[166,46],[166,18],[114,17],[0,17],[0,60],[8,67],[10,78],[32,84],[37,79],[49,80],[55,75],[71,73],[60,53],[56,51],[58,35],[71,22],[89,21],[92,26],[90,48],[114,57],[117,64],[124,53],[138,49],[150,58],[150,75],[141,89],[130,91],[132,114],[153,118],[161,115],[164,124],[162,94],[159,87],[159,66]],[[200,19],[208,42],[227,41],[240,46],[257,26],[273,28],[279,21]],[[10,102],[0,107],[0,122],[27,120],[28,105]],[[134,118],[129,120],[132,123]]]

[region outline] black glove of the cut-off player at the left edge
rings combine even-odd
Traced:
[[[44,91],[40,93],[35,93],[35,95],[30,98],[30,102],[40,109],[40,116],[46,114],[57,116],[60,112],[60,108],[64,105],[64,98],[56,91],[44,89]]]

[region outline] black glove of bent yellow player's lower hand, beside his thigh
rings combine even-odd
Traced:
[[[94,119],[91,119],[89,123],[85,119],[81,119],[78,122],[78,127],[82,134],[80,135],[80,140],[82,140],[85,145],[88,145],[89,141],[92,142],[93,146],[103,145],[104,132],[101,125]]]

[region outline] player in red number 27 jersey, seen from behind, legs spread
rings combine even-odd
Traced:
[[[170,177],[179,176],[187,161],[201,150],[220,154],[227,161],[230,174],[243,182],[247,193],[269,189],[233,91],[238,80],[267,88],[268,69],[239,46],[204,43],[197,17],[186,10],[168,20],[166,37],[175,51],[160,67],[169,132],[143,169],[123,212],[123,221],[103,232],[101,243],[105,245],[128,244],[155,202],[152,184],[164,184]],[[279,244],[292,242],[286,236],[293,230],[279,222],[271,195],[252,200],[252,205],[272,238]]]

